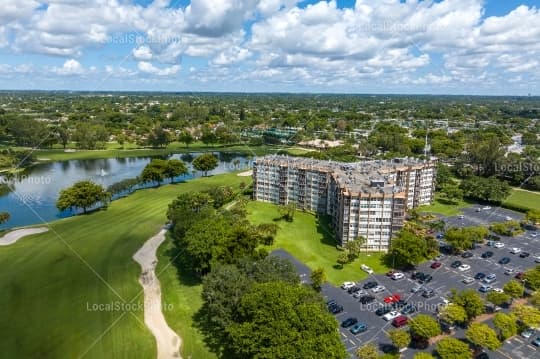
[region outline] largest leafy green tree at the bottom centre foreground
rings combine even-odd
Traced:
[[[255,284],[242,297],[238,314],[228,330],[235,357],[347,357],[334,317],[311,288]]]

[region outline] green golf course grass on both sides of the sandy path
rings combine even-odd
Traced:
[[[95,306],[120,306],[141,292],[140,267],[132,255],[166,221],[167,205],[173,198],[181,192],[211,185],[237,186],[241,181],[246,178],[228,174],[138,191],[107,210],[56,221],[47,233],[0,247],[1,356],[155,357],[154,339],[142,324],[142,310],[135,308],[131,315]],[[160,251],[164,260],[165,253]],[[167,318],[182,330],[179,334],[185,338],[186,350],[194,358],[204,357],[198,356],[206,351],[187,321],[200,301],[200,288],[185,283],[173,286],[172,270],[169,267],[163,273],[163,299],[173,304]],[[142,305],[142,295],[134,303]]]

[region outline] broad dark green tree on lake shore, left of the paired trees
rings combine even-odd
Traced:
[[[109,202],[111,194],[103,186],[92,181],[79,181],[60,191],[56,208],[60,211],[81,208],[84,213],[97,204]]]

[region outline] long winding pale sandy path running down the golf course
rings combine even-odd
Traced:
[[[165,233],[166,228],[159,231],[133,256],[142,267],[139,282],[144,289],[144,323],[156,338],[158,359],[181,358],[182,344],[182,340],[169,327],[161,311],[161,286],[154,270],[157,265],[156,251],[165,241]]]

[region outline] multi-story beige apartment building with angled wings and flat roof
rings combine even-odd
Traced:
[[[266,156],[253,166],[255,200],[328,214],[343,245],[358,236],[386,251],[405,211],[433,200],[436,163],[403,158],[341,163]]]

